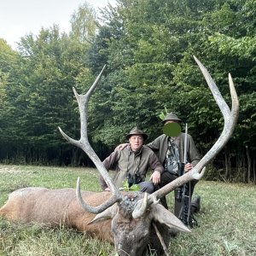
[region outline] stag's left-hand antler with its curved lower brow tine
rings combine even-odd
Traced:
[[[105,179],[106,183],[108,184],[108,188],[111,190],[113,196],[110,198],[107,202],[103,203],[99,207],[90,207],[88,206],[82,199],[81,193],[80,193],[80,186],[79,186],[79,180],[77,183],[77,195],[80,205],[84,208],[85,211],[91,212],[91,213],[99,213],[106,210],[108,207],[112,206],[115,202],[122,200],[122,195],[119,191],[119,189],[116,188],[116,186],[113,184],[113,181],[111,177],[108,175],[108,171],[103,166],[102,161],[99,159],[99,157],[94,152],[93,148],[91,148],[90,143],[88,141],[88,135],[87,135],[87,106],[90,99],[90,96],[96,89],[96,85],[98,84],[99,80],[101,79],[102,73],[105,69],[106,65],[102,68],[101,73],[97,76],[95,82],[91,85],[90,89],[87,91],[85,95],[79,95],[77,91],[73,88],[74,95],[76,96],[77,102],[79,103],[79,113],[80,113],[80,132],[81,137],[78,140],[74,140],[71,137],[68,137],[67,134],[61,130],[59,127],[59,130],[61,131],[61,135],[67,139],[69,143],[72,143],[73,145],[82,148],[85,152],[85,154],[88,154],[90,157],[90,160],[93,161],[95,164],[97,170],[101,173],[102,177]],[[78,192],[79,190],[79,192]]]

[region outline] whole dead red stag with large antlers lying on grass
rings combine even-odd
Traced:
[[[114,244],[119,256],[147,255],[148,248],[157,255],[169,255],[166,245],[170,241],[170,231],[188,231],[189,229],[177,219],[172,212],[166,210],[159,203],[160,198],[172,190],[192,179],[203,176],[205,166],[224,147],[230,139],[238,117],[239,102],[236,90],[229,75],[232,108],[224,102],[216,84],[207,69],[195,58],[201,68],[207,84],[212,91],[224,116],[224,130],[218,141],[205,154],[201,161],[190,172],[178,177],[172,183],[148,195],[142,192],[120,192],[108,176],[102,161],[90,147],[87,137],[87,105],[90,95],[96,89],[102,72],[85,95],[74,94],[79,103],[81,137],[79,141],[68,137],[63,131],[61,134],[69,143],[82,148],[96,165],[97,170],[105,179],[112,193],[80,191],[79,179],[77,189],[18,189],[9,195],[9,201],[0,209],[0,215],[11,221],[29,223],[38,221],[44,224],[66,224],[91,236]],[[77,194],[77,195],[76,195]]]

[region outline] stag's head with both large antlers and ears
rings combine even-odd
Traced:
[[[87,106],[88,101],[98,84],[105,67],[102,68],[102,72],[96,78],[96,81],[90,87],[85,95],[79,95],[73,88],[74,95],[79,103],[80,122],[81,122],[81,137],[79,140],[73,140],[68,137],[59,127],[63,137],[67,139],[69,143],[82,148],[90,159],[96,165],[97,170],[108,184],[112,196],[108,201],[105,201],[98,207],[90,207],[83,200],[80,193],[80,183],[78,178],[77,183],[77,198],[81,207],[85,211],[96,214],[96,217],[90,224],[94,224],[98,221],[102,221],[108,218],[112,219],[112,233],[113,241],[116,252],[119,256],[138,256],[146,255],[147,245],[150,244],[154,247],[157,255],[168,255],[166,243],[168,244],[170,236],[168,230],[181,230],[189,232],[189,229],[178,219],[172,212],[166,210],[165,207],[160,205],[160,198],[167,195],[172,190],[189,182],[192,179],[200,179],[205,171],[205,166],[211,161],[216,154],[224,147],[224,145],[230,139],[238,117],[239,102],[236,96],[236,90],[229,75],[230,93],[232,97],[232,108],[224,102],[218,87],[212,80],[207,69],[195,58],[198,66],[201,68],[207,84],[212,91],[212,95],[218,104],[221,112],[224,116],[224,130],[218,141],[214,143],[212,148],[201,159],[201,161],[190,172],[187,172],[182,177],[178,177],[172,183],[167,184],[165,187],[155,191],[153,194],[148,195],[142,192],[133,193],[121,193],[119,189],[114,185],[111,177],[108,175],[108,171],[102,164],[102,161],[97,157],[94,150],[91,148],[87,136]],[[157,236],[157,237],[156,237]]]

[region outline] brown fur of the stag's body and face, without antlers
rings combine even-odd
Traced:
[[[111,193],[82,191],[81,195],[84,201],[96,207],[108,201]],[[151,249],[156,249],[158,255],[162,255],[163,249],[152,228],[152,221],[156,220],[154,206],[141,218],[132,218],[134,207],[143,193],[123,193],[123,195],[125,201],[119,204],[118,209],[115,205],[108,208],[107,212],[96,216],[80,207],[75,189],[24,188],[15,190],[9,195],[9,200],[0,209],[0,215],[15,223],[38,222],[50,226],[64,224],[79,231],[86,231],[90,236],[109,241],[111,244],[114,244],[113,237],[118,235],[116,238],[118,241],[115,243],[122,244],[119,255],[127,255],[126,252],[131,253],[130,255],[146,255],[147,244],[151,245]],[[166,234],[164,240],[168,244],[170,240],[168,228],[157,222],[156,224],[159,230]],[[116,233],[116,236],[113,233]],[[137,247],[134,247],[135,241]],[[134,247],[134,251],[131,247]],[[117,251],[119,249],[116,247]]]

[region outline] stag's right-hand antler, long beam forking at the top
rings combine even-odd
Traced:
[[[161,198],[164,195],[167,195],[172,190],[180,187],[184,183],[188,183],[192,179],[200,179],[204,172],[205,172],[205,166],[218,154],[218,152],[224,147],[224,145],[229,141],[235,126],[236,121],[238,119],[239,114],[239,101],[238,97],[236,95],[236,89],[233,84],[232,78],[229,74],[229,84],[230,84],[230,94],[232,98],[232,108],[230,111],[230,108],[224,102],[223,96],[221,96],[217,85],[214,83],[211,75],[207,72],[207,68],[204,67],[201,62],[196,59],[194,56],[196,63],[201,69],[201,73],[203,73],[205,79],[207,80],[207,84],[212,91],[212,95],[215,99],[215,101],[218,104],[218,108],[220,108],[221,113],[224,116],[224,130],[222,131],[220,137],[216,141],[216,143],[213,144],[212,148],[207,152],[207,154],[204,155],[204,157],[199,161],[199,163],[189,172],[185,173],[181,177],[177,177],[172,183],[166,184],[165,187],[155,191],[153,194],[148,196],[148,203],[152,204],[157,199]]]

